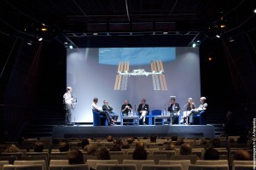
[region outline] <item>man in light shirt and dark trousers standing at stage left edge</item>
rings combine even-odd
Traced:
[[[64,109],[66,111],[66,124],[71,124],[71,116],[73,111],[73,96],[71,92],[72,88],[67,87],[67,92],[63,95]]]

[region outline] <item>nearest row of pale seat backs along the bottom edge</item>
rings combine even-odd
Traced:
[[[37,170],[55,170],[55,169],[179,169],[179,170],[199,170],[199,169],[214,169],[214,170],[229,170],[227,161],[196,161],[191,164],[189,160],[171,161],[160,160],[159,164],[155,164],[153,160],[124,160],[119,163],[118,160],[88,160],[85,164],[69,165],[67,160],[52,160],[49,167],[44,161],[15,161],[14,165],[8,161],[0,161],[0,168],[3,170],[19,169],[37,169]],[[253,161],[234,161],[232,170],[238,169],[253,169]]]

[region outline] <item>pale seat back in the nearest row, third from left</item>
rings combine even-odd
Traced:
[[[96,170],[137,170],[135,164],[105,164],[97,163]]]

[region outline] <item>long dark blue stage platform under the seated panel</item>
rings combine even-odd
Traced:
[[[126,125],[126,126],[56,126],[52,138],[104,138],[108,134],[115,138],[137,136],[178,136],[183,138],[214,138],[212,125]]]

